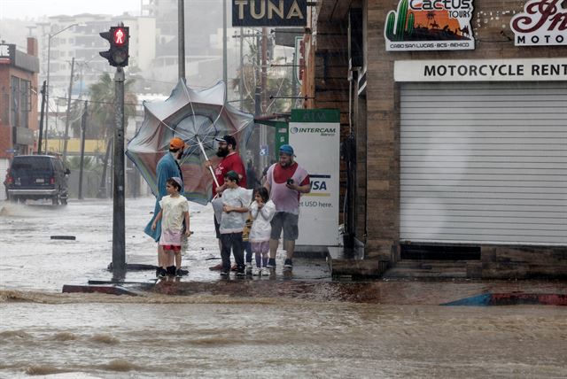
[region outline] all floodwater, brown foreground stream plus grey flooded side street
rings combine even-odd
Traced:
[[[127,200],[130,263],[155,259],[151,208]],[[112,203],[2,209],[0,378],[567,377],[566,307],[61,294],[105,273]],[[212,213],[191,210],[189,265],[216,256]]]

